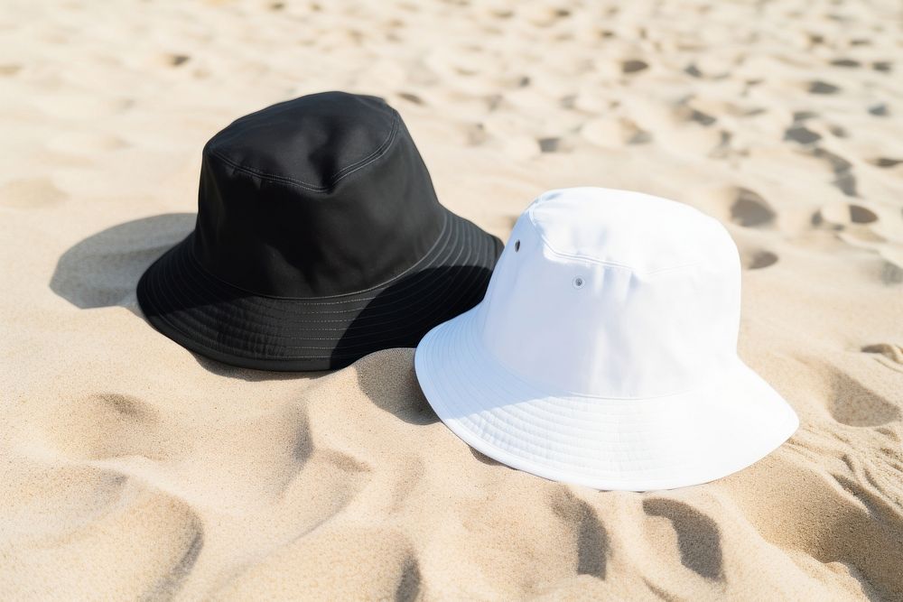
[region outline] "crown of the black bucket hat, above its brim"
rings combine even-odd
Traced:
[[[193,253],[257,295],[366,291],[423,257],[446,215],[377,97],[324,92],[237,119],[204,148]]]

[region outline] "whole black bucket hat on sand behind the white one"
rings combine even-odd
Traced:
[[[469,310],[501,248],[439,204],[395,109],[326,92],[213,136],[195,230],[137,295],[154,328],[202,356],[323,370],[415,347]]]

